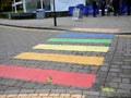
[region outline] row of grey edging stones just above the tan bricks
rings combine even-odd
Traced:
[[[131,94],[123,93],[104,93],[104,91],[78,91],[74,89],[21,89],[21,90],[2,90],[0,95],[13,95],[13,94],[80,94],[85,96],[97,96],[97,97],[115,97],[115,98],[131,98]]]

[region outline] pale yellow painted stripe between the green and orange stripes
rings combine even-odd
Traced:
[[[35,46],[34,49],[107,52],[109,47],[72,46],[72,45],[45,45],[45,44],[40,44],[40,45]]]

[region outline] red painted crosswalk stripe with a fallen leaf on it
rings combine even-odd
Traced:
[[[92,87],[96,75],[63,72],[55,70],[44,70],[35,68],[23,68],[15,65],[0,65],[0,76],[10,78],[21,78],[46,83],[49,76],[52,77],[53,84],[71,85],[76,87]]]

